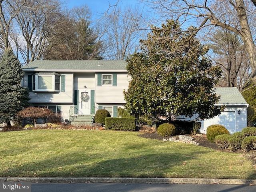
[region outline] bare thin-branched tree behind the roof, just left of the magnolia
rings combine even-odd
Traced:
[[[104,15],[105,58],[124,60],[134,52],[143,31],[139,30],[142,12],[139,9],[118,6],[110,7]]]

